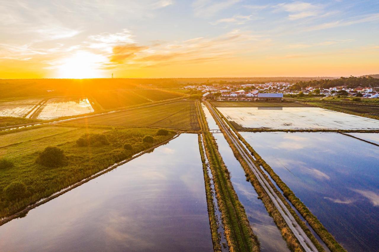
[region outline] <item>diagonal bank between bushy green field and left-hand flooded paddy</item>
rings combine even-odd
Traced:
[[[120,161],[120,162],[118,162],[118,163],[114,163],[113,165],[108,166],[107,168],[105,168],[105,169],[103,169],[103,170],[101,170],[101,171],[98,171],[98,172],[95,173],[95,174],[92,174],[91,176],[87,177],[86,179],[82,179],[81,181],[79,181],[79,182],[77,182],[77,183],[74,183],[74,184],[72,184],[72,185],[69,185],[68,187],[63,188],[62,190],[60,190],[60,191],[58,191],[58,192],[56,192],[56,193],[53,193],[52,195],[50,195],[50,196],[47,197],[47,198],[42,198],[42,199],[40,199],[39,201],[37,201],[36,203],[31,204],[31,205],[28,205],[26,208],[20,210],[20,211],[17,212],[17,213],[14,213],[13,215],[10,215],[10,216],[8,216],[8,217],[5,217],[5,218],[3,218],[3,219],[0,219],[0,226],[4,225],[5,223],[7,223],[7,222],[9,222],[9,221],[11,221],[11,220],[13,220],[13,219],[23,217],[23,216],[27,215],[27,213],[28,213],[30,210],[32,210],[32,209],[34,209],[34,208],[36,208],[36,207],[38,207],[38,206],[40,206],[40,205],[43,205],[43,204],[45,204],[45,203],[51,201],[52,199],[55,199],[55,198],[57,198],[58,196],[61,196],[62,194],[67,193],[68,191],[71,191],[72,189],[74,189],[74,188],[76,188],[76,187],[78,187],[78,186],[80,186],[80,185],[85,184],[86,182],[88,182],[88,181],[90,181],[90,180],[92,180],[92,179],[95,179],[96,177],[99,177],[99,176],[101,176],[101,175],[107,173],[108,171],[111,171],[111,170],[117,168],[117,167],[120,166],[120,165],[123,165],[123,164],[125,164],[125,163],[127,163],[127,162],[129,162],[129,161],[131,161],[131,160],[133,160],[133,159],[135,159],[135,158],[137,158],[137,157],[139,157],[139,156],[142,156],[143,154],[145,154],[145,153],[147,153],[147,152],[150,152],[150,151],[152,151],[153,149],[155,149],[155,148],[157,148],[157,147],[159,147],[159,146],[161,146],[161,145],[165,145],[166,143],[170,142],[171,140],[174,140],[175,138],[179,137],[179,135],[180,135],[180,134],[176,134],[174,137],[171,137],[170,139],[168,139],[168,140],[166,140],[166,141],[164,141],[164,142],[161,142],[161,143],[159,143],[158,145],[152,146],[152,147],[150,147],[149,149],[146,149],[146,150],[144,150],[144,151],[141,151],[141,152],[139,152],[139,153],[136,153],[136,154],[134,154],[132,157],[130,157],[130,158],[128,158],[128,159],[122,160],[122,161]]]

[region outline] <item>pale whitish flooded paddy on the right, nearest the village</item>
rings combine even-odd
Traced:
[[[240,128],[379,129],[375,119],[319,107],[218,107]]]

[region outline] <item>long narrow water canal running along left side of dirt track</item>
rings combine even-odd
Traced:
[[[207,107],[202,105],[205,117],[210,129],[219,129]],[[247,218],[254,233],[258,236],[262,251],[289,251],[287,244],[275,225],[273,218],[269,216],[263,202],[258,199],[258,194],[250,182],[246,181],[245,172],[222,133],[215,133],[219,152],[230,172],[230,180],[238,195],[238,199],[244,206]]]

